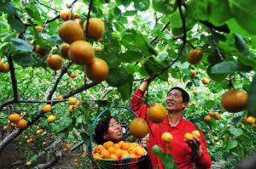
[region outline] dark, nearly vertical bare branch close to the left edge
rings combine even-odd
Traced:
[[[15,76],[15,65],[11,57],[11,54],[6,54],[6,56],[9,62],[9,70],[10,70],[10,75],[11,75],[11,80],[12,80],[12,85],[14,90],[14,99],[18,100],[18,87],[17,87],[17,79]]]

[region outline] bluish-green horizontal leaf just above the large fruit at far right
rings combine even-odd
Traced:
[[[251,67],[241,65],[236,61],[221,62],[212,66],[212,74],[234,73],[236,71],[249,71]]]

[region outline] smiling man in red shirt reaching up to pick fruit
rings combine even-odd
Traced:
[[[208,155],[206,139],[203,133],[200,131],[199,138],[193,136],[189,141],[184,140],[186,132],[197,130],[194,123],[183,118],[182,111],[189,103],[189,94],[186,91],[180,87],[173,87],[166,96],[166,110],[168,111],[166,119],[160,124],[148,120],[146,115],[147,106],[143,104],[143,95],[151,81],[152,78],[148,78],[137,89],[131,99],[131,110],[148,121],[148,155],[153,168],[156,166],[159,166],[159,169],[165,168],[158,156],[151,152],[155,144],[158,144],[161,149],[165,149],[165,143],[161,139],[163,132],[172,133],[172,143],[167,144],[172,147],[172,150],[168,149],[168,152],[173,155],[174,162],[179,169],[192,169],[194,163],[198,169],[211,168],[212,160]]]

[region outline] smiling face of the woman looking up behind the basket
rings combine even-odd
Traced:
[[[113,141],[113,143],[118,143],[122,140],[122,127],[118,121],[115,121],[113,118],[110,119],[108,125],[108,132],[104,134],[104,138],[108,141]]]

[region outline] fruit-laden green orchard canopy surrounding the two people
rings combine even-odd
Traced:
[[[212,161],[234,166],[255,149],[256,1],[1,0],[0,15],[0,155],[22,146],[20,166],[52,143],[67,149],[44,165],[89,145],[96,116],[129,107],[147,76],[148,106],[189,92],[183,115]]]

